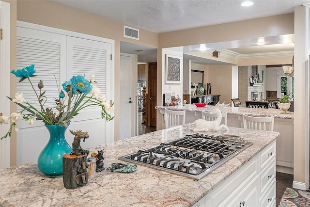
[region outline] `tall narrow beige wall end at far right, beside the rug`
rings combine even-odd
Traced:
[[[306,33],[305,17],[305,7],[295,7],[294,100],[298,101],[294,101],[294,181],[301,183],[305,182],[307,176],[305,175],[305,147],[309,147],[306,146],[305,139],[305,62],[307,60],[306,54],[309,55],[306,49],[306,42],[309,41],[309,33]]]

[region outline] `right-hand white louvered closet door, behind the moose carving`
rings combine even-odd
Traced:
[[[67,77],[82,75],[90,80],[94,74],[97,81],[94,84],[106,95],[107,100],[110,100],[111,71],[107,69],[111,67],[110,54],[109,43],[67,37]],[[70,127],[73,130],[88,131],[90,137],[82,143],[83,148],[114,141],[111,135],[111,122],[101,119],[101,108],[96,106],[80,111],[78,116],[72,119]]]

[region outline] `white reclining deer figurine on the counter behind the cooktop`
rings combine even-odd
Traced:
[[[229,128],[226,125],[220,125],[221,121],[222,121],[222,113],[221,111],[218,109],[219,106],[228,106],[229,104],[224,104],[225,102],[223,102],[222,104],[218,103],[215,105],[215,107],[212,109],[212,111],[210,111],[209,113],[217,114],[217,118],[214,121],[207,121],[207,120],[203,120],[203,119],[197,119],[196,121],[194,121],[194,127],[192,128],[192,131],[194,132],[202,132],[202,131],[209,131],[209,130],[221,130],[222,128],[225,128],[226,130],[229,130]]]

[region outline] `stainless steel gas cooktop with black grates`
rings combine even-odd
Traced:
[[[234,135],[214,137],[193,134],[139,150],[119,159],[192,179],[201,179],[252,144]]]

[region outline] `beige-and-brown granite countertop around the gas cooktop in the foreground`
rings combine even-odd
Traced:
[[[107,168],[112,162],[123,162],[118,157],[194,134],[190,130],[192,126],[187,124],[99,145],[90,148],[90,152],[105,149],[104,164]],[[230,131],[221,133],[241,136],[253,145],[201,180],[138,165],[137,171],[128,174],[106,170],[95,173],[86,186],[68,190],[63,186],[62,175],[44,175],[36,162],[32,162],[0,170],[0,206],[190,207],[279,136],[278,132],[229,128]],[[210,131],[208,134],[216,136],[219,133]]]

